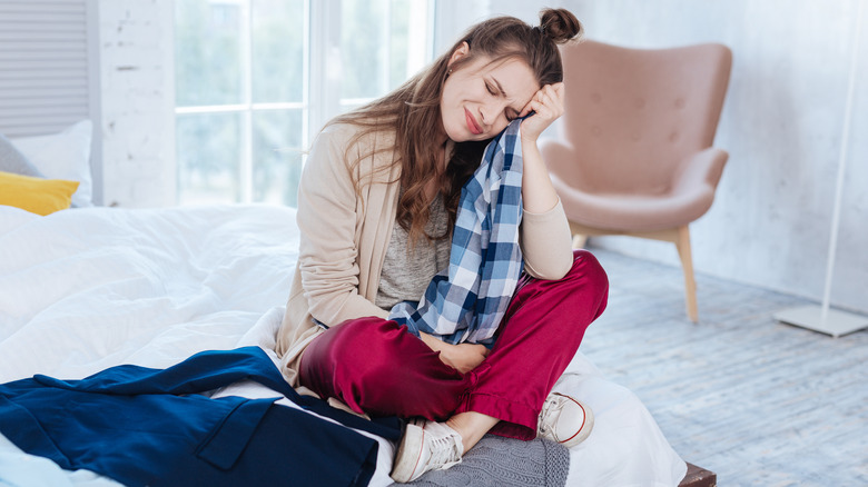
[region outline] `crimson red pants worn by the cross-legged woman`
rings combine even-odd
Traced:
[[[445,420],[477,411],[501,419],[491,433],[533,439],[545,397],[605,309],[605,271],[590,252],[573,254],[561,280],[522,277],[491,354],[468,374],[445,365],[405,327],[369,317],[315,338],[302,357],[300,382],[357,413]]]

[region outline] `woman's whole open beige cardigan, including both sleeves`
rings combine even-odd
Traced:
[[[277,332],[282,372],[298,387],[298,358],[326,325],[366,316],[388,317],[374,305],[392,226],[398,176],[392,165],[394,135],[368,135],[346,152],[357,127],[326,127],[314,141],[298,185],[298,264]],[[347,159],[368,156],[351,173]],[[349,156],[349,158],[347,158]],[[354,181],[364,178],[361,193]],[[524,268],[541,279],[560,279],[572,266],[571,236],[560,201],[544,213],[524,212],[520,242]]]

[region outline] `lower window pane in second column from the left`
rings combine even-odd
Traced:
[[[253,199],[297,206],[302,110],[258,110],[253,118]]]

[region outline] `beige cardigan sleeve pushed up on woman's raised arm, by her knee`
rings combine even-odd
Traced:
[[[556,280],[573,266],[573,244],[570,223],[561,200],[549,211],[524,211],[521,226],[524,270],[537,279]]]

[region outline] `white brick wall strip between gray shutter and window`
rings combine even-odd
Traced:
[[[102,201],[172,205],[174,2],[97,1]]]

